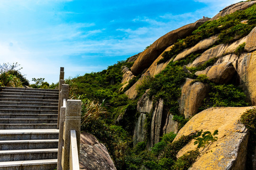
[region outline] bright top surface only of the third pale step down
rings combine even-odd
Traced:
[[[58,152],[58,148],[50,149],[24,149],[24,150],[4,150],[0,151],[0,154],[17,154],[17,153],[53,153]]]

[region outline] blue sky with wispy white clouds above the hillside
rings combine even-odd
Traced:
[[[0,0],[0,64],[56,83],[60,67],[65,78],[101,71],[239,1]]]

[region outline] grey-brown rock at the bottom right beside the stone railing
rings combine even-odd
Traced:
[[[116,170],[107,148],[86,132],[80,137],[79,165],[80,170]]]

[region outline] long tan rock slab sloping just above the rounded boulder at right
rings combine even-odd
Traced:
[[[221,57],[223,55],[227,55],[230,53],[234,53],[238,46],[244,42],[247,41],[247,36],[233,42],[232,44],[219,44],[213,48],[210,48],[207,51],[204,51],[201,56],[196,58],[192,64],[189,64],[188,67],[197,67],[199,65],[202,65],[204,62],[208,61],[209,59],[212,59],[214,57]]]

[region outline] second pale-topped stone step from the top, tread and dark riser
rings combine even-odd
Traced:
[[[3,140],[0,141],[0,150],[18,149],[47,149],[58,148],[58,139],[41,140]]]

